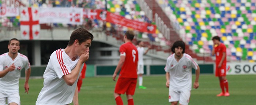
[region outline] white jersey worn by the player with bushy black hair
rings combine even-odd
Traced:
[[[170,74],[169,89],[177,91],[190,91],[192,87],[192,67],[196,70],[197,63],[188,54],[183,54],[179,62],[175,54],[167,58],[165,71]]]

